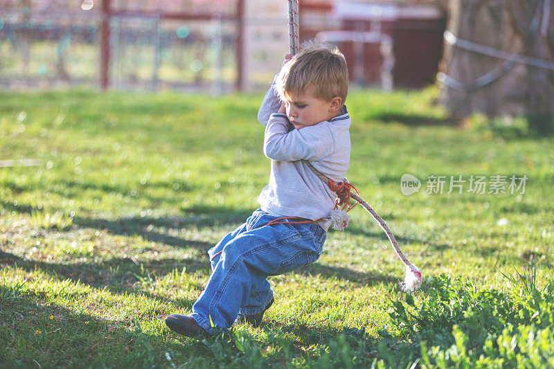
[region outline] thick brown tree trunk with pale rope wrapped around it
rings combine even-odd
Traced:
[[[554,4],[551,2],[449,1],[445,51],[440,65],[443,73],[439,73],[438,80],[443,82],[440,102],[453,118],[474,112],[491,117],[524,115],[539,131],[554,128]],[[494,49],[504,55],[528,58],[513,61],[486,55],[497,53]],[[542,67],[523,62],[537,60],[544,61]]]

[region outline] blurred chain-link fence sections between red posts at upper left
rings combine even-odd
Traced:
[[[3,89],[100,86],[101,12],[2,10]],[[234,21],[179,21],[135,12],[110,17],[109,28],[111,87],[213,93],[235,88]]]

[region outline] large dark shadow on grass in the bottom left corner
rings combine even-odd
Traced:
[[[3,285],[0,295],[10,296],[0,300],[0,345],[9,348],[0,353],[3,368],[166,366],[163,352],[182,348],[168,339],[167,329],[158,335],[136,330],[132,317],[109,321],[61,307],[38,292]]]

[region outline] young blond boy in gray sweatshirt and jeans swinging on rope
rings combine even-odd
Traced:
[[[213,326],[226,330],[235,320],[260,325],[274,302],[267,277],[321,255],[326,229],[318,221],[329,217],[337,196],[308,163],[337,183],[346,176],[348,70],[337,48],[313,42],[289,58],[258,113],[264,154],[271,159],[260,208],[208,251],[212,274],[193,313],[166,318],[179,334],[208,336]]]

